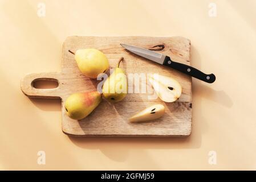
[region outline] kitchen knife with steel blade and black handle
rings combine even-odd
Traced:
[[[213,83],[216,80],[216,77],[213,73],[210,75],[207,75],[196,68],[190,67],[189,65],[177,63],[172,59],[170,59],[169,56],[163,55],[162,53],[150,51],[148,49],[141,48],[141,47],[131,46],[128,44],[120,44],[120,45],[123,46],[128,51],[135,53],[136,55],[145,57],[149,60],[155,61],[156,63],[166,65],[170,68],[176,69],[182,73],[185,73],[186,75],[190,75],[199,80],[202,80],[208,83]]]

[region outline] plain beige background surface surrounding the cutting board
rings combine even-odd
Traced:
[[[37,15],[38,3],[46,16]],[[208,15],[209,3],[217,17]],[[256,169],[256,1],[0,1],[0,169]],[[60,71],[70,35],[184,36],[192,65],[192,135],[182,139],[69,138],[59,100],[30,100],[26,73]],[[46,165],[37,152],[46,152]],[[208,163],[209,151],[217,164]]]

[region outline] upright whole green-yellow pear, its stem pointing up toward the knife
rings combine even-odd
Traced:
[[[120,62],[124,59],[121,57],[117,63],[117,68],[107,78],[103,84],[102,93],[104,98],[111,102],[119,102],[124,99],[128,92],[127,78],[123,69],[119,68]]]

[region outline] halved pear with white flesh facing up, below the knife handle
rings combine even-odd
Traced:
[[[181,96],[182,87],[172,77],[154,74],[149,76],[149,82],[155,89],[157,96],[164,102],[174,102]]]

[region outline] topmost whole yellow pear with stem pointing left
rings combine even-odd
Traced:
[[[75,53],[69,52],[75,55],[78,68],[87,77],[97,78],[100,73],[104,73],[109,67],[107,57],[97,49],[79,49]]]

